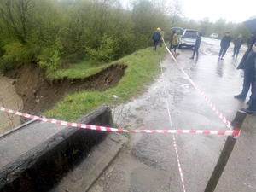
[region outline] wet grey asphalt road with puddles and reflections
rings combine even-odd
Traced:
[[[246,47],[242,47],[238,58],[232,58],[231,44],[224,61],[219,61],[219,40],[203,38],[199,59],[195,61],[189,59],[191,49],[177,49],[179,66],[229,121],[235,118],[237,110],[247,108],[247,100],[233,97],[241,91],[243,73],[236,70],[236,66],[245,50]],[[142,96],[113,108],[113,119],[119,126],[126,129],[228,130],[171,55],[160,55],[160,65],[163,73],[148,85]],[[129,137],[130,143],[90,192],[204,191],[226,139],[212,135],[146,133]],[[247,191],[256,191],[254,187]],[[224,189],[236,191],[230,186]]]

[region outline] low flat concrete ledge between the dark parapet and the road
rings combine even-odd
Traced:
[[[118,133],[108,133],[102,143],[93,147],[86,159],[68,172],[61,182],[50,191],[88,191],[119,154],[126,142],[126,137]]]

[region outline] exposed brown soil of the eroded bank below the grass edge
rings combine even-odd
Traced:
[[[125,65],[113,64],[102,72],[84,79],[47,80],[43,71],[35,65],[20,67],[15,73],[15,88],[22,97],[24,113],[39,114],[52,108],[65,93],[79,90],[107,90],[118,84],[125,74]]]

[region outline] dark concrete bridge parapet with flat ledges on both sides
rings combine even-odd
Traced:
[[[77,122],[113,126],[106,105]],[[0,191],[49,191],[67,178],[89,189],[125,142],[118,133],[28,122],[0,136]]]

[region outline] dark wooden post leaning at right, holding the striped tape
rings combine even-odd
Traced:
[[[241,129],[241,125],[246,118],[247,113],[243,111],[238,111],[236,113],[235,119],[232,121],[231,125],[236,129]],[[218,180],[221,177],[222,172],[230,158],[230,154],[236,144],[236,137],[229,136],[224,144],[224,148],[218,158],[217,165],[215,166],[212,176],[210,177],[205,192],[213,192],[218,184]]]

